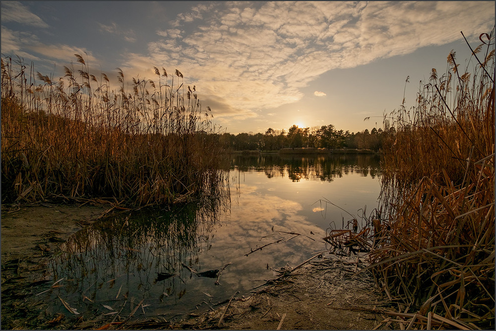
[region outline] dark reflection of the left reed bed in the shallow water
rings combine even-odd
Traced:
[[[121,308],[121,314],[129,315],[140,302],[145,307],[136,315],[176,314],[190,311],[193,297],[197,299],[190,288],[209,284],[217,294],[215,279],[193,276],[184,265],[207,270],[199,256],[210,249],[215,224],[229,214],[228,190],[227,185],[222,194],[170,211],[100,221],[72,235],[51,263],[54,280],[63,278],[63,286],[47,297],[54,312],[64,310],[60,296],[88,315]]]

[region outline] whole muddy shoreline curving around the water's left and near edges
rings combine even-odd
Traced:
[[[13,210],[8,207],[2,205],[1,222],[4,328],[67,330],[99,328],[108,324],[109,321],[101,318],[86,323],[77,322],[66,311],[49,314],[45,302],[17,300],[21,293],[32,292],[33,284],[54,281],[47,274],[46,266],[50,257],[57,253],[57,246],[73,233],[106,215],[108,206],[44,203],[21,205]],[[356,261],[356,257],[351,259]],[[364,261],[360,262],[360,267],[365,265]],[[301,268],[293,268],[294,273],[283,274],[273,283],[267,282],[257,290],[242,293],[244,295],[233,295],[227,305],[215,310],[210,308],[213,311],[201,314],[190,312],[182,315],[186,319],[167,324],[181,329],[207,326],[220,329],[275,329],[279,323],[282,323],[281,329],[371,329],[383,320],[380,311],[371,311],[371,307],[387,303],[378,293],[372,293],[372,276],[351,277],[357,268],[358,265],[351,260],[345,261],[332,255],[321,256],[306,261]],[[367,304],[357,304],[356,297]],[[42,310],[33,309],[35,306]],[[25,317],[19,315],[22,311],[28,312]],[[342,318],[343,313],[347,314],[346,318]],[[286,314],[284,321],[283,314]],[[61,318],[62,315],[64,318]],[[124,318],[121,322],[119,329],[158,327],[156,321],[143,316],[133,321]]]

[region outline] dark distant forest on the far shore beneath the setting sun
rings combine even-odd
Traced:
[[[386,123],[387,124],[387,123]],[[288,131],[268,128],[265,133],[221,133],[217,137],[224,149],[243,150],[280,150],[283,148],[328,148],[328,149],[370,149],[379,151],[382,141],[388,134],[394,134],[394,127],[385,130],[375,127],[350,133],[337,130],[334,125],[300,128],[291,126]]]

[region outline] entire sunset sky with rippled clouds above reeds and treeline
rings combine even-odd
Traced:
[[[74,54],[114,82],[178,69],[224,132],[358,132],[494,24],[494,1],[1,1],[1,54],[55,77]]]

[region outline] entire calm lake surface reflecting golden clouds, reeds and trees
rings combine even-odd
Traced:
[[[274,277],[272,268],[295,266],[324,250],[326,229],[346,225],[353,218],[348,213],[357,219],[370,214],[378,175],[378,158],[370,155],[233,157],[223,189],[211,199],[120,216],[71,236],[51,263],[62,286],[40,298],[53,302],[52,312],[67,314],[60,297],[88,319],[121,309],[120,316],[129,316],[139,303],[135,317],[169,320],[207,310]],[[219,285],[185,267],[205,272],[228,263]]]

